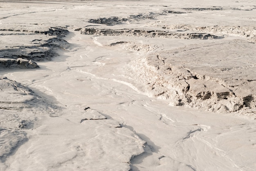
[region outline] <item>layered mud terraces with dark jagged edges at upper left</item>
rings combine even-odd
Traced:
[[[25,32],[28,34],[24,34]],[[1,29],[0,33],[0,66],[6,68],[38,68],[34,61],[51,60],[58,55],[57,49],[69,47],[68,42],[63,39],[68,31],[61,27],[38,31]],[[20,43],[10,44],[17,35],[26,36],[26,39]]]

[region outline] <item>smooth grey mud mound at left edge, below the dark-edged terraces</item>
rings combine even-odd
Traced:
[[[24,85],[0,78],[0,163],[25,143],[26,131],[32,129],[38,114],[54,116],[58,107],[36,95]]]

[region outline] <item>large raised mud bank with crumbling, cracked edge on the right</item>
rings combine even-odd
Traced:
[[[231,43],[235,46],[230,47]],[[148,91],[156,97],[170,99],[172,105],[219,112],[245,110],[253,115],[255,52],[247,51],[254,46],[243,40],[193,44],[148,55],[132,65],[135,73],[144,78]],[[226,53],[227,49],[231,52]],[[218,58],[220,53],[224,60]],[[242,58],[243,62],[236,62]]]

